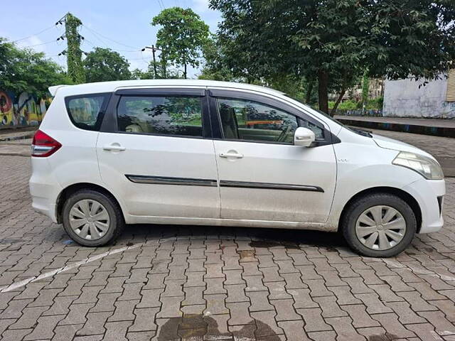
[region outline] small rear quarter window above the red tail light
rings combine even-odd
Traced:
[[[109,94],[85,94],[65,98],[70,119],[77,128],[100,130]]]

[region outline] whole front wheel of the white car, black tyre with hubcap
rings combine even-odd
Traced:
[[[391,257],[412,242],[417,220],[410,205],[387,193],[355,200],[341,221],[349,246],[363,256]]]

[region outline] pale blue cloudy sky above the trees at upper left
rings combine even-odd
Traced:
[[[0,37],[16,41],[19,47],[31,47],[66,67],[66,40],[57,38],[65,33],[63,25],[55,23],[70,12],[80,18],[81,49],[94,46],[117,50],[130,63],[130,70],[146,70],[151,52],[140,52],[146,45],[156,43],[159,26],[151,26],[151,18],[168,7],[191,8],[215,33],[220,13],[208,8],[208,0],[18,0],[2,4]],[[199,70],[188,69],[188,77]]]

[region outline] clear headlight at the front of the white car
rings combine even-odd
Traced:
[[[444,173],[442,173],[439,163],[427,156],[401,151],[392,163],[397,166],[410,168],[412,171],[422,174],[428,180],[444,179]]]

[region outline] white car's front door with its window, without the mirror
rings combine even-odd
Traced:
[[[336,183],[330,132],[280,101],[213,91],[223,132],[215,140],[221,217],[241,220],[326,222]],[[272,104],[270,104],[272,103]],[[214,116],[213,116],[214,117]],[[314,147],[294,146],[298,126],[312,129]]]

